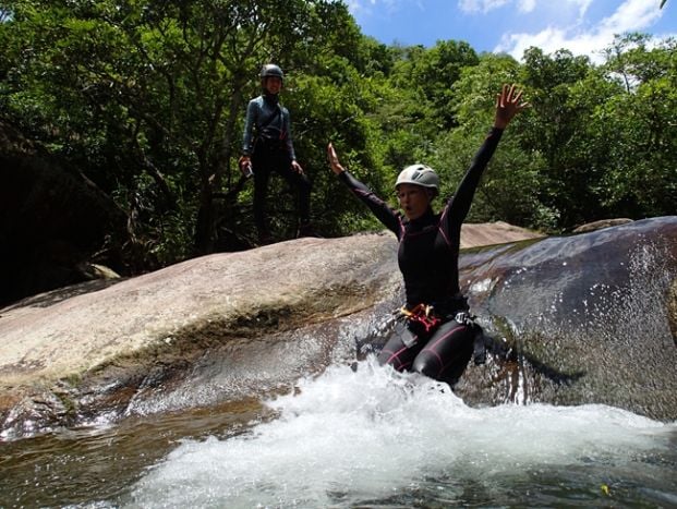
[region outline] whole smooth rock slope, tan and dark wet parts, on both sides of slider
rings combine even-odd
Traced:
[[[462,286],[501,352],[458,393],[677,419],[676,239],[668,217],[463,252]],[[396,250],[387,233],[301,239],[0,310],[2,436],[220,404],[353,362],[387,339]]]

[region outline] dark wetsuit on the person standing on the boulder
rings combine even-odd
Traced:
[[[265,93],[252,99],[246,108],[242,154],[252,157],[254,170],[254,221],[259,234],[266,235],[266,193],[268,178],[275,171],[290,185],[299,189],[300,222],[310,221],[311,182],[305,174],[291,168],[295,159],[291,138],[289,110],[280,106],[278,96]]]

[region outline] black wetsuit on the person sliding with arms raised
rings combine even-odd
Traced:
[[[396,334],[378,355],[382,364],[390,364],[397,371],[419,372],[451,385],[466,369],[473,353],[476,326],[455,319],[458,313],[468,312],[458,280],[461,225],[501,134],[503,131],[496,128],[489,131],[442,213],[434,214],[428,208],[422,217],[412,221],[389,207],[350,173],[340,173],[339,178],[397,235],[407,308],[412,310],[419,304],[432,305],[440,320],[431,331],[411,320],[396,327]]]

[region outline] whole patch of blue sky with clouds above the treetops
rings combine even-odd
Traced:
[[[599,61],[614,34],[677,36],[677,0],[346,0],[362,33],[380,43],[464,40],[477,52],[520,60],[536,46]]]

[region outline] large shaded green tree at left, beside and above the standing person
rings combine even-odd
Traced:
[[[230,245],[229,218],[219,228],[242,187],[232,162],[261,64],[300,72],[361,40],[346,7],[322,0],[11,9],[5,114],[114,194],[159,263]],[[339,38],[335,26],[352,32]]]

